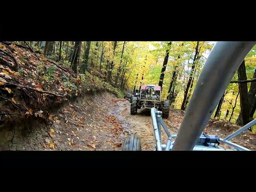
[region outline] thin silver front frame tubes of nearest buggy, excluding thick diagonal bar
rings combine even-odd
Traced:
[[[164,121],[162,120],[162,112],[157,111],[156,108],[151,109],[151,118],[152,118],[152,123],[153,123],[153,128],[154,128],[154,137],[156,141],[156,150],[157,151],[162,151],[162,150],[173,150],[173,146],[175,144],[175,140],[172,141],[172,139],[175,139],[177,137],[176,134],[171,134],[166,125],[164,124]],[[253,120],[252,122],[248,123],[244,127],[240,128],[236,132],[230,134],[230,136],[226,138],[234,138],[238,134],[242,133],[244,130],[247,128],[251,127],[252,125],[256,124],[256,120]],[[161,142],[161,126],[164,128],[164,131],[166,132],[168,136],[168,140],[166,144],[162,144]],[[205,137],[199,137],[199,138],[205,138]],[[220,142],[224,144],[228,144],[229,146],[234,147],[234,149],[224,149],[220,146],[213,146],[212,144],[209,144],[209,146],[204,146],[202,144],[196,144],[193,148],[194,151],[235,151],[235,150],[244,150],[244,151],[250,151],[250,149],[245,148],[243,146],[240,146],[238,144],[235,144],[233,142],[228,141],[227,139],[221,139]]]

